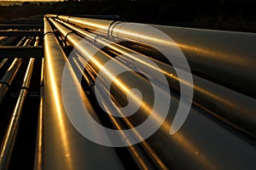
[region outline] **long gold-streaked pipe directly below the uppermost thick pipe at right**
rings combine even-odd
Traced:
[[[148,65],[142,59],[138,59],[135,54],[139,54],[134,50],[125,48],[119,44],[111,42],[103,37],[98,37],[93,33],[79,29],[76,26],[70,25],[67,22],[56,19],[62,25],[67,26],[69,29],[76,31],[83,37],[85,37],[91,43],[94,43],[98,48],[108,48],[110,51],[119,55],[119,61],[124,65],[134,65],[140,71],[144,71],[144,74],[151,75],[160,81],[158,77],[154,76],[154,71],[158,71],[165,74],[169,81],[170,87],[179,91],[179,83],[183,83],[184,86],[194,88],[193,101],[201,109],[212,113],[213,116],[217,116],[222,121],[227,122],[232,127],[239,128],[241,131],[256,136],[256,100],[248,97],[244,94],[239,94],[236,91],[224,88],[216,83],[207,81],[201,77],[193,75],[193,84],[190,84],[182,78],[178,78],[176,71],[171,65],[166,65],[156,59],[153,60],[160,69],[154,65]],[[148,56],[139,54],[144,58]],[[154,71],[152,71],[154,70]],[[185,71],[183,74],[187,75]]]

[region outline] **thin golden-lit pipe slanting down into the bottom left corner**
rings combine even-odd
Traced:
[[[39,38],[37,38],[35,42],[35,46],[38,45],[38,41],[39,41]],[[12,116],[9,121],[9,125],[7,127],[7,131],[4,135],[3,142],[1,144],[0,169],[3,169],[3,170],[8,169],[9,167],[9,161],[12,156],[12,152],[15,146],[15,139],[19,129],[22,108],[25,103],[27,90],[31,82],[33,65],[34,65],[34,59],[32,58],[29,60],[29,63],[26,69],[26,75],[24,77],[24,80],[21,86],[19,98],[15,105],[15,110],[12,113]]]

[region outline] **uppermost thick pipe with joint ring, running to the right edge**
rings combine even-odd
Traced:
[[[96,31],[114,42],[130,41],[163,50],[175,45],[166,39],[155,37],[157,35],[148,32],[148,29],[141,24],[64,15],[49,16]],[[253,66],[256,65],[254,58],[256,48],[253,46],[256,43],[256,34],[172,26],[149,26],[172,37],[188,59],[191,69],[199,75],[256,97],[254,88],[256,68]]]

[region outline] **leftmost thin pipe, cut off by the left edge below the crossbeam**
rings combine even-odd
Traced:
[[[26,39],[26,37],[23,37],[20,42],[16,46],[20,46],[21,43]],[[32,41],[31,38],[27,38],[26,42],[24,43],[23,46],[29,45],[29,43]],[[2,105],[3,99],[5,95],[7,94],[10,85],[12,84],[15,75],[17,71],[19,71],[20,65],[21,65],[22,59],[14,59],[12,65],[9,66],[8,71],[5,73],[3,78],[0,81],[0,105]]]

